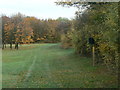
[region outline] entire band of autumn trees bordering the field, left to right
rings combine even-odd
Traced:
[[[65,3],[64,3],[65,4]],[[80,3],[79,3],[80,4]],[[105,64],[109,70],[118,71],[119,60],[119,16],[118,3],[85,3],[83,13],[76,12],[76,18],[68,20],[40,20],[22,14],[2,16],[3,45],[9,43],[56,43],[63,48],[73,47],[76,54],[92,55],[89,38],[95,40],[95,64]],[[3,46],[4,48],[4,46]]]

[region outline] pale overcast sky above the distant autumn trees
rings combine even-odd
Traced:
[[[0,0],[0,13],[11,16],[20,12],[42,19],[74,18],[77,8],[58,6],[55,1],[57,0]]]

